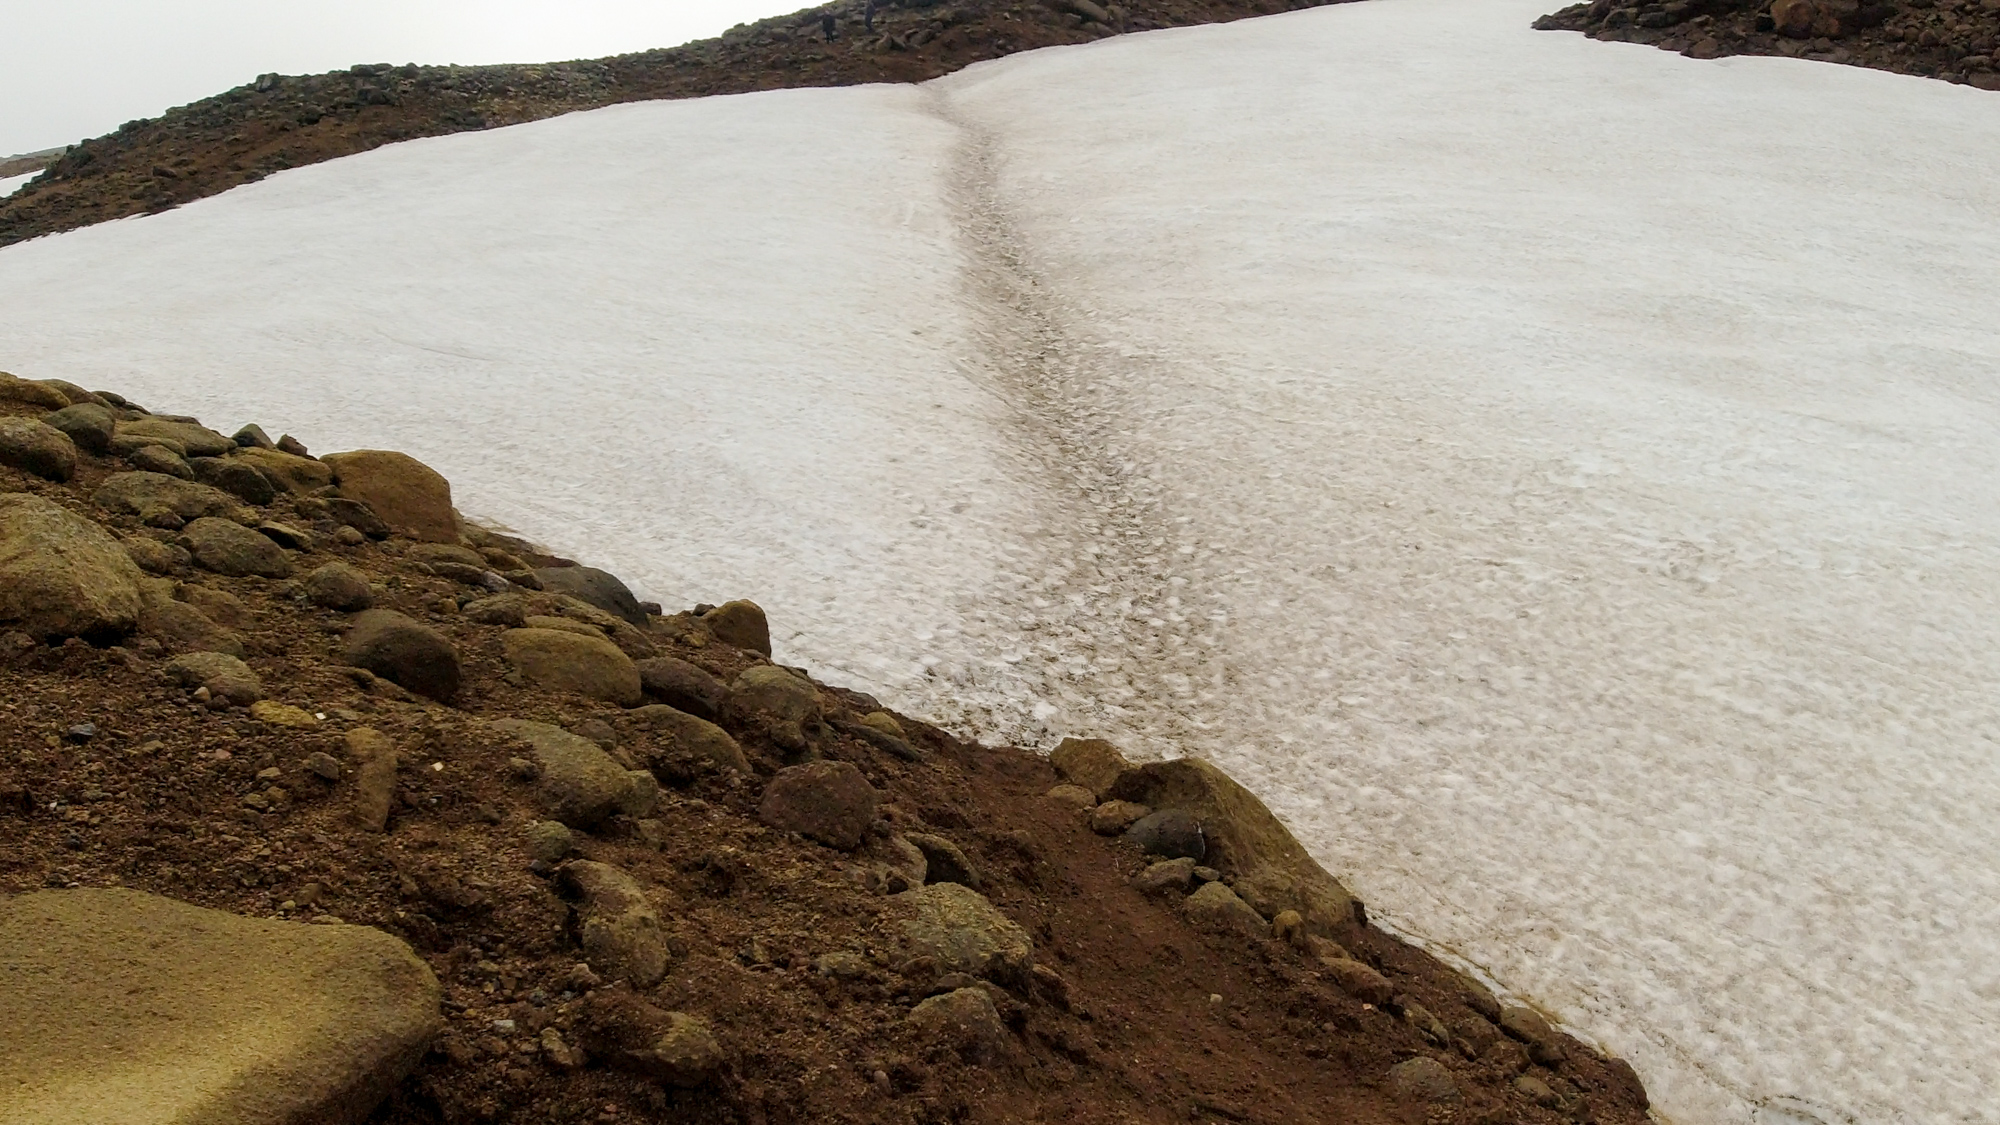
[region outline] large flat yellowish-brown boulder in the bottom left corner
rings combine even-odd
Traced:
[[[122,889],[0,899],[8,1125],[348,1125],[436,1031],[436,977],[378,929]]]

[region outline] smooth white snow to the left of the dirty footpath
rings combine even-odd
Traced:
[[[398,144],[6,250],[0,366],[412,450],[468,512],[756,597],[894,689],[1036,514],[954,298],[954,144],[888,86]]]

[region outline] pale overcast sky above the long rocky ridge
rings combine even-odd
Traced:
[[[0,16],[0,156],[98,136],[266,70],[548,62],[708,38],[808,0],[60,0]]]

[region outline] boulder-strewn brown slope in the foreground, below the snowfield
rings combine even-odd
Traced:
[[[48,1013],[0,1107],[90,1117],[108,1027],[314,1121],[1644,1121],[1212,767],[964,743],[768,637],[404,454],[0,376],[0,963]]]

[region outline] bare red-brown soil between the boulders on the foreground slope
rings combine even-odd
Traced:
[[[40,410],[0,402],[0,414]],[[0,490],[44,496],[126,540],[170,542],[172,530],[92,504],[94,488],[126,468],[82,454],[72,480],[52,482],[0,466]],[[760,791],[784,751],[724,721],[750,777],[660,759],[632,713],[524,683],[502,655],[504,629],[460,613],[488,589],[438,577],[404,538],[346,534],[342,544],[326,510],[324,496],[278,494],[254,514],[312,530],[294,552],[300,575],[344,560],[370,577],[378,605],[446,635],[464,663],[454,705],[386,681],[362,687],[336,655],[346,615],[304,599],[296,579],[186,565],[170,575],[180,601],[208,607],[242,639],[274,701],[322,717],[306,731],[198,703],[164,675],[174,647],[160,637],[44,645],[0,625],[0,893],[124,885],[406,939],[444,983],[448,1029],[376,1111],[378,1125],[1646,1119],[1624,1063],[1568,1041],[1554,1067],[1530,1065],[1494,1027],[1482,989],[1366,921],[1344,943],[1388,977],[1390,1003],[1348,995],[1290,943],[1198,929],[1178,895],[1130,885],[1144,865],[1132,845],[1094,835],[1076,807],[1044,797],[1058,777],[1040,755],[898,717],[916,749],[906,761],[834,723],[814,751],[882,791],[880,831],[964,849],[982,891],[1060,977],[990,987],[1010,1027],[1002,1055],[968,1061],[928,1043],[906,1029],[906,1013],[966,981],[900,951],[896,899],[856,879],[866,853],[760,823]],[[510,548],[530,565],[560,562]],[[690,615],[648,621],[646,645],[724,681],[766,663]],[[834,721],[874,711],[838,687],[820,695]],[[646,999],[708,1019],[726,1055],[698,1089],[602,1061],[578,1069],[542,1047],[544,1029],[568,1043],[588,1037],[594,981],[578,975],[550,867],[530,863],[526,827],[542,813],[514,763],[526,749],[484,727],[498,717],[558,723],[628,763],[652,763],[660,809],[578,833],[580,855],[630,873],[660,911],[674,957]],[[402,753],[386,833],[352,821],[352,773],[324,781],[304,769],[316,753],[344,761],[344,735],[358,727]],[[862,971],[824,973],[830,953],[860,957]],[[1450,1033],[1426,1039],[1406,1019],[1412,1005]],[[1386,1075],[1416,1057],[1442,1063],[1462,1101],[1398,1095]],[[1522,1075],[1548,1091],[1524,1083],[1522,1093]]]

